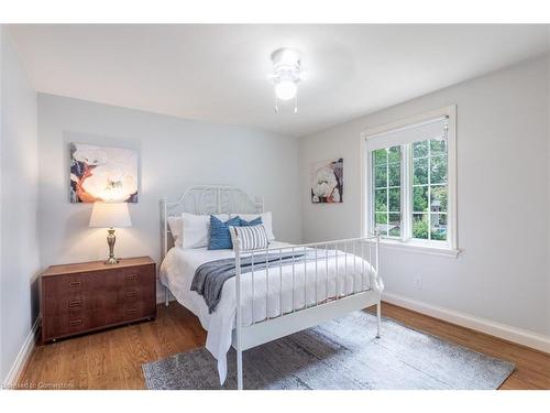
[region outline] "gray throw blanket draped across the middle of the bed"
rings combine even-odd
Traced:
[[[331,253],[333,256],[333,252]],[[323,258],[324,253],[319,258]],[[254,258],[254,260],[252,260]],[[292,265],[293,262],[304,262],[304,260],[315,260],[315,250],[307,252],[282,252],[282,253],[263,253],[248,257],[241,257],[241,274],[252,272],[252,262],[254,262],[254,271],[265,270],[267,265],[284,267]],[[205,262],[195,271],[195,276],[191,282],[191,291],[196,291],[205,298],[208,311],[212,313],[221,300],[221,290],[223,283],[232,276],[235,276],[235,259],[227,258]]]

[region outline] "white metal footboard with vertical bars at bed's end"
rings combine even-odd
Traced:
[[[233,243],[237,265],[237,320],[233,347],[237,350],[239,389],[243,389],[242,352],[257,345],[371,305],[377,306],[376,336],[380,337],[380,302],[383,290],[380,240],[377,233],[337,241],[242,251],[241,240],[235,237]],[[292,257],[290,263],[283,263],[283,253],[285,257]],[[278,254],[279,260],[270,262],[266,259],[270,254]],[[241,259],[245,256],[250,257],[250,268],[242,271]],[[264,264],[261,269],[260,262]],[[308,278],[311,279],[309,284]],[[260,280],[265,282],[263,289],[258,289]],[[315,291],[314,294],[308,294],[308,285],[311,283]],[[290,287],[285,290],[285,284],[290,284]],[[246,323],[243,322],[244,287],[251,296],[251,315],[250,322]],[[285,300],[285,293],[290,295],[289,300]],[[263,309],[258,313],[256,304],[264,300],[265,316]],[[274,304],[277,301],[278,306]]]

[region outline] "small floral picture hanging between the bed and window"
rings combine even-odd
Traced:
[[[343,159],[316,162],[311,166],[311,203],[343,202]]]

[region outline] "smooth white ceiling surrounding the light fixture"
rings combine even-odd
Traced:
[[[546,25],[12,25],[38,91],[305,135],[548,51]],[[270,54],[304,52],[299,113]]]

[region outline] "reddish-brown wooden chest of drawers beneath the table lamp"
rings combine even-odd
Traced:
[[[150,257],[50,267],[41,275],[42,340],[155,318],[155,268]]]

